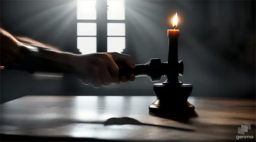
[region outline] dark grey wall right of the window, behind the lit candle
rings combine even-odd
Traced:
[[[193,95],[255,97],[255,1],[127,3],[128,42],[139,64],[167,60],[168,19],[177,12],[179,60],[185,64],[180,80],[194,85]]]

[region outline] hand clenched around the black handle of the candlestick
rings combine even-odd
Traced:
[[[133,82],[135,75],[119,78],[119,68],[117,65],[126,65],[135,68],[132,58],[120,53],[92,53],[87,55],[77,55],[70,60],[70,64],[80,72],[86,72],[88,76],[81,76],[84,84],[92,84],[94,88],[100,86],[110,86],[111,84]]]

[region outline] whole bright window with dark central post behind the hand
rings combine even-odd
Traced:
[[[107,52],[122,53],[126,48],[124,0],[77,1],[77,48],[82,54],[97,52],[97,2],[106,2]],[[102,17],[102,16],[101,16]]]

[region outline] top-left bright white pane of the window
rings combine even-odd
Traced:
[[[77,19],[96,20],[96,0],[77,0]]]

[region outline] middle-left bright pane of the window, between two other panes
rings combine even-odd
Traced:
[[[78,36],[96,36],[96,23],[77,23]]]

